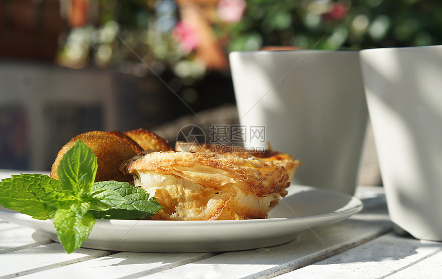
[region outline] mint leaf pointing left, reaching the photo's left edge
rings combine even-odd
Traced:
[[[32,218],[46,220],[54,216],[56,208],[40,197],[59,189],[59,181],[47,175],[13,175],[0,182],[0,204],[5,208],[30,215]]]

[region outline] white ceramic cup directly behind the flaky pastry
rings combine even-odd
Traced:
[[[265,126],[267,147],[303,164],[293,182],[353,194],[367,108],[357,51],[231,52],[240,124]]]

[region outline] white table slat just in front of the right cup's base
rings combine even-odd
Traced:
[[[390,233],[278,278],[351,278],[355,274],[358,278],[384,278],[403,269],[407,269],[406,274],[416,276],[410,266],[440,251],[441,243]],[[434,272],[433,267],[429,270]]]

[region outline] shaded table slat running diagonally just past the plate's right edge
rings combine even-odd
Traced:
[[[305,231],[299,234],[296,240],[285,245],[223,253],[145,277],[195,278],[201,274],[208,278],[271,277],[316,263],[337,251],[349,249],[390,232],[392,223],[386,208],[377,207],[335,225],[314,230],[315,233]]]

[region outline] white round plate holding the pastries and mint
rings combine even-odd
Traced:
[[[362,210],[352,196],[291,185],[267,219],[226,221],[97,220],[82,247],[134,252],[209,252],[287,243],[297,233],[346,219]],[[0,209],[0,218],[58,241],[50,220]]]

